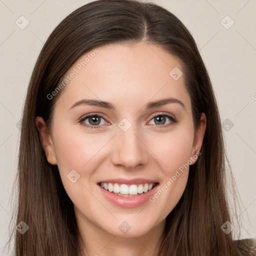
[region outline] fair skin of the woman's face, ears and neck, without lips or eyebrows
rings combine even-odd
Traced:
[[[188,169],[155,201],[147,200],[130,208],[106,200],[97,182],[142,177],[157,180],[158,187],[163,186],[200,150],[206,117],[202,113],[198,129],[194,130],[184,75],[178,80],[169,75],[174,67],[182,70],[182,66],[159,46],[136,42],[97,49],[99,52],[61,91],[49,131],[41,117],[36,118],[36,126],[47,160],[57,164],[64,188],[73,202],[78,228],[88,251],[86,255],[149,256],[159,245],[166,216],[185,189]],[[167,97],[179,99],[184,107],[167,103],[145,108],[149,101]],[[70,108],[85,98],[108,101],[115,109],[87,104]],[[102,117],[98,128],[79,123],[79,119],[89,113]],[[163,113],[175,116],[178,122],[172,123],[166,117],[162,124],[153,118]],[[118,126],[123,118],[131,124],[126,131]],[[90,118],[83,123],[93,125]],[[73,169],[80,175],[74,183],[67,178]],[[118,228],[123,221],[130,226],[126,233]]]

